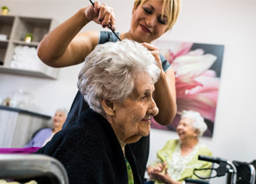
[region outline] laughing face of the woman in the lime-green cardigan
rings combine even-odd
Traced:
[[[197,138],[197,133],[193,127],[193,119],[189,117],[183,117],[177,125],[176,131],[180,140],[183,141],[189,138]]]

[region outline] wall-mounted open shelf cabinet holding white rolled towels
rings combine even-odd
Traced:
[[[0,73],[56,79],[59,70],[36,55],[39,42],[56,24],[52,18],[0,16]],[[28,33],[33,35],[30,42],[25,41]]]

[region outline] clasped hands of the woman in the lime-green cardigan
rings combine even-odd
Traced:
[[[150,179],[154,179],[157,181],[162,181],[164,183],[172,183],[172,179],[167,173],[168,168],[166,167],[166,162],[160,163],[155,167],[151,167],[148,169],[148,174]]]

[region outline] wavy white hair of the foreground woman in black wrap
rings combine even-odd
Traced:
[[[93,111],[105,115],[102,99],[122,102],[131,94],[138,73],[148,73],[156,83],[160,71],[154,56],[138,42],[106,42],[86,57],[77,86]]]

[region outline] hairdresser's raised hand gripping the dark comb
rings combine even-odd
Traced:
[[[116,29],[116,21],[113,10],[111,7],[107,6],[106,3],[99,3],[99,1],[90,4],[85,9],[86,19],[88,21],[94,21],[99,23],[103,28],[107,27],[109,23],[113,30]]]

